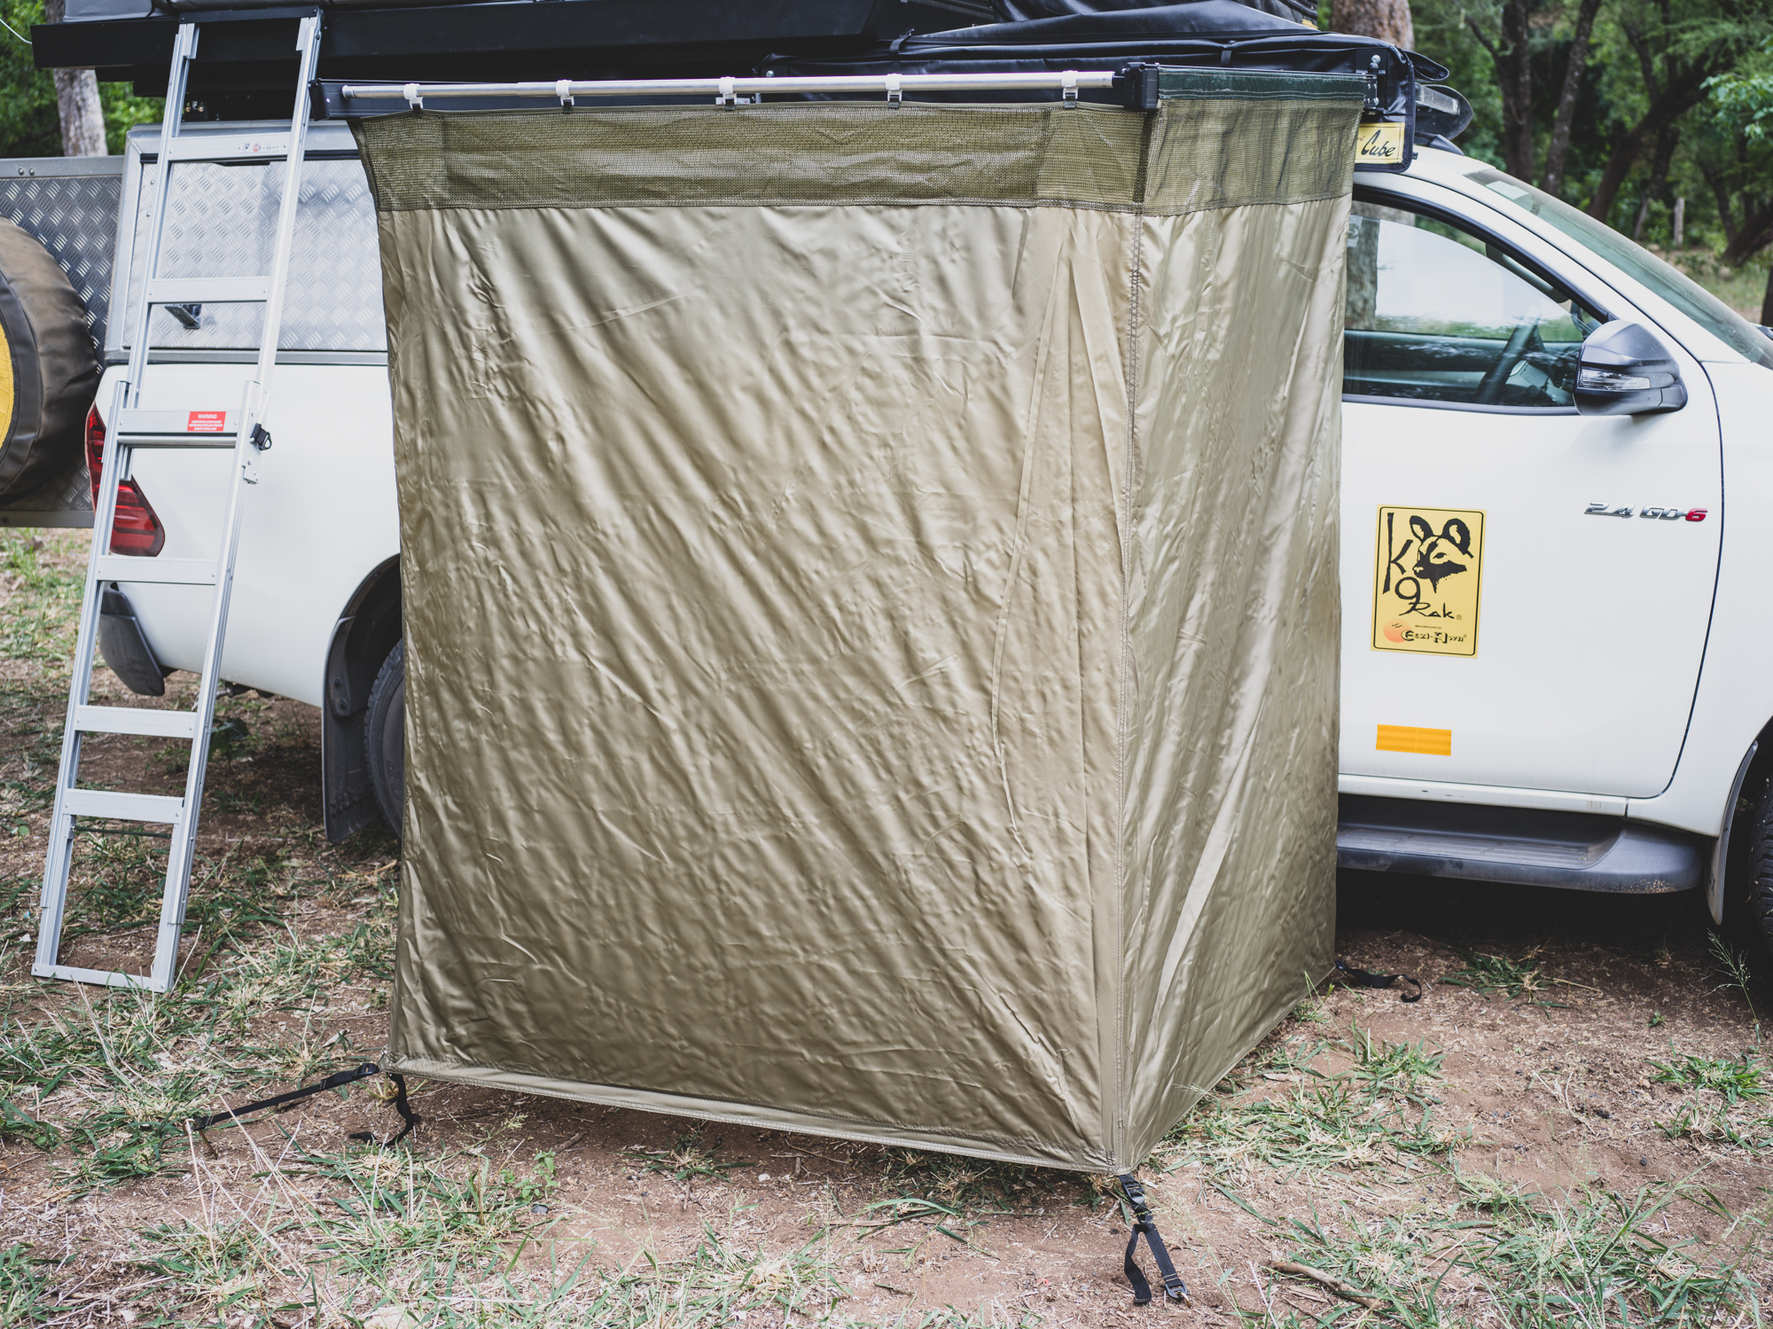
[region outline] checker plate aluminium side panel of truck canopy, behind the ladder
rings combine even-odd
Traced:
[[[218,124],[241,133],[287,126]],[[186,126],[202,133],[206,126]],[[160,129],[129,135],[124,197],[135,198],[135,237],[145,239],[154,207],[152,161]],[[309,129],[309,161],[301,174],[296,213],[296,250],[289,266],[289,305],[284,312],[282,351],[381,353],[387,328],[381,315],[381,253],[376,246],[376,209],[356,145],[342,124]],[[181,163],[172,172],[161,276],[259,276],[271,269],[282,172],[269,163]],[[131,301],[140,292],[140,264],[128,273]],[[167,310],[154,312],[152,344],[176,353],[246,353],[259,346],[262,305],[207,305],[186,328]],[[105,344],[108,360],[129,351],[131,330],[113,326]]]

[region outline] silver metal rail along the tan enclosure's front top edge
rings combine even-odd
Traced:
[[[959,73],[959,74],[814,74],[787,78],[613,78],[613,80],[555,80],[532,83],[344,83],[339,97],[348,106],[346,115],[371,113],[351,103],[404,101],[415,110],[426,99],[465,97],[546,97],[571,106],[576,97],[695,97],[711,96],[716,103],[736,97],[757,97],[764,92],[778,96],[839,94],[856,96],[879,92],[888,101],[915,92],[1062,92],[1074,99],[1080,89],[1110,89],[1117,74],[1112,69],[1012,71],[1012,73]],[[332,99],[328,97],[328,103]],[[330,106],[328,106],[330,110]],[[379,108],[378,108],[379,110]]]

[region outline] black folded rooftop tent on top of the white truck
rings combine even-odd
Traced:
[[[991,69],[1216,66],[1362,73],[1369,110],[1410,138],[1456,133],[1422,110],[1447,71],[1371,37],[1317,32],[1308,0],[69,0],[64,23],[32,30],[39,67],[96,69],[161,96],[174,34],[206,35],[188,119],[287,115],[291,34],[326,16],[321,83],[346,80],[716,78],[746,73],[954,73]],[[1025,94],[1027,99],[1057,94]],[[1129,89],[1085,94],[1124,101]],[[1436,101],[1434,97],[1429,97]],[[1445,97],[1438,101],[1445,103]],[[339,112],[337,97],[323,113]],[[1466,110],[1468,113],[1468,110]],[[1463,126],[1459,126],[1463,128]]]

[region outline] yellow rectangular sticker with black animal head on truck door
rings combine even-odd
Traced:
[[[1372,583],[1374,650],[1477,654],[1482,512],[1381,507],[1378,563]]]

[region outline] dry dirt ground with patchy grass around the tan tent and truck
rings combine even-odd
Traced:
[[[0,537],[0,1325],[1748,1325],[1773,1304],[1773,962],[1690,897],[1344,879],[1340,952],[1424,998],[1321,989],[1160,1146],[1170,1306],[1131,1306],[1105,1178],[445,1083],[378,1150],[349,1132],[399,1125],[379,1079],[193,1138],[193,1113],[378,1054],[397,851],[324,842],[316,712],[227,698],[179,987],[32,980],[83,560],[80,533]],[[85,769],[183,781],[158,741],[105,739]],[[82,836],[66,960],[145,964],[158,852]]]

